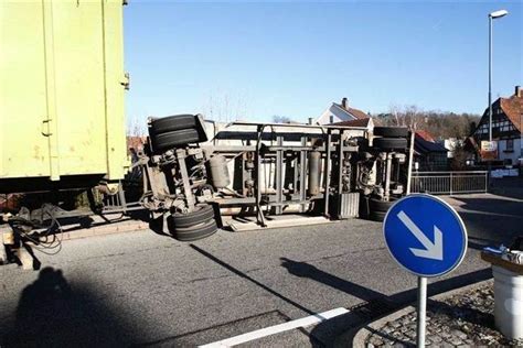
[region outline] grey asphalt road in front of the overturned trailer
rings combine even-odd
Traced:
[[[478,249],[503,237],[501,221],[519,224],[521,233],[522,200],[469,198],[474,205],[466,197],[449,202],[478,239],[459,269],[429,281],[431,293],[491,276]],[[485,206],[485,199],[493,200]],[[510,206],[499,213],[502,220],[476,222],[500,203]],[[351,325],[416,297],[416,278],[392,261],[381,227],[354,219],[220,231],[193,243],[152,231],[66,241],[56,255],[36,251],[40,271],[0,267],[0,346],[202,345],[346,307],[351,313],[339,320],[246,345],[329,346]]]

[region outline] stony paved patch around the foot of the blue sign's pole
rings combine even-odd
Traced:
[[[505,338],[494,325],[493,282],[442,301],[427,303],[427,346],[512,346],[523,339]],[[386,323],[365,340],[366,347],[415,346],[416,312]]]

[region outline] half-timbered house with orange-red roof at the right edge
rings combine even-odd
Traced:
[[[523,157],[521,141],[523,119],[523,89],[515,86],[510,98],[498,98],[492,104],[492,140],[498,141],[498,160],[505,164],[517,164]],[[489,109],[478,123],[473,138],[478,144],[489,140]]]

